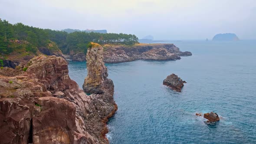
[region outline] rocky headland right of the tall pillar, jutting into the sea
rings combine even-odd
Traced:
[[[174,44],[136,44],[135,46],[104,46],[104,62],[130,62],[138,59],[176,60],[180,56],[191,56],[181,52]]]

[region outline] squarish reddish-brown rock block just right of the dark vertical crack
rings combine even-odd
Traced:
[[[38,99],[41,111],[33,116],[33,144],[70,144],[74,141],[75,106],[62,98]]]

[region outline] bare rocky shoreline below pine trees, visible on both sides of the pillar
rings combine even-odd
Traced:
[[[50,44],[50,46],[54,46]],[[50,47],[49,46],[49,47]],[[181,56],[191,56],[191,52],[181,52],[174,44],[135,44],[128,45],[103,45],[103,58],[105,63],[131,62],[139,59],[144,60],[176,60],[181,59]],[[26,63],[34,56],[44,54],[47,56],[61,56],[66,60],[85,61],[86,55],[84,52],[72,52],[71,55],[63,55],[62,52],[56,48],[51,49],[47,47],[39,47],[35,54],[26,53],[20,54],[13,52],[7,57],[0,56],[3,60],[3,65],[15,68],[20,63]]]

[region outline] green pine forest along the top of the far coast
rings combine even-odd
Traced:
[[[54,42],[64,54],[70,54],[70,52],[86,52],[86,46],[89,42],[125,45],[138,43],[138,37],[131,34],[93,32],[67,33],[64,31],[26,26],[23,23],[11,24],[6,20],[0,19],[1,55],[8,55],[16,49],[19,49],[19,47],[12,45],[14,40],[23,40],[28,42],[26,44],[26,50],[33,52],[35,52],[39,47],[47,47],[49,43]]]

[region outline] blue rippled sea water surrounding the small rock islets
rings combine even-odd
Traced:
[[[256,144],[256,41],[174,44],[193,56],[106,64],[118,105],[110,144]],[[182,92],[162,84],[172,73],[187,82]],[[69,75],[82,87],[85,62],[70,62]],[[216,125],[195,116],[210,111]]]

